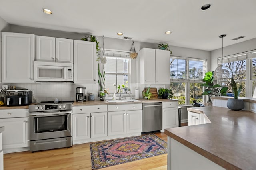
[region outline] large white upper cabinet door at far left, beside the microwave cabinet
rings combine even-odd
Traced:
[[[2,32],[3,83],[34,83],[34,58],[34,34]]]

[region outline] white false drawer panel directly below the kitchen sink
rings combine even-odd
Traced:
[[[108,111],[132,111],[132,110],[142,110],[142,103],[108,105]]]

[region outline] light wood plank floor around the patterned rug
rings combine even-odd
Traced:
[[[155,133],[167,142],[164,133]],[[4,170],[90,170],[90,145],[77,144],[70,148],[44,150],[38,152],[16,152],[4,154]],[[102,170],[166,170],[167,154],[153,156]]]

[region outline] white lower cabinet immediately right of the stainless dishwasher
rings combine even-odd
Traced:
[[[178,101],[163,102],[162,130],[178,127]]]

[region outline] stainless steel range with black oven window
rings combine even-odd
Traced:
[[[72,103],[29,105],[30,152],[72,146]]]

